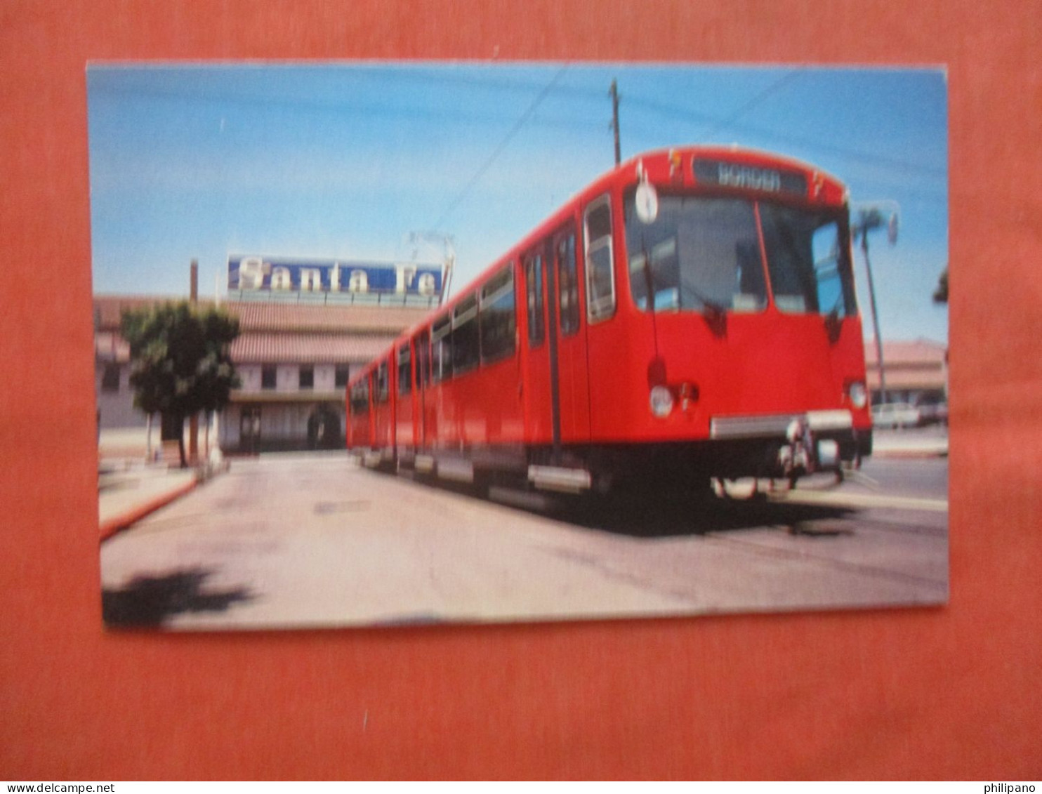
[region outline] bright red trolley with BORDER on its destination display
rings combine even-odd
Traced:
[[[739,148],[582,190],[348,388],[371,466],[605,491],[871,452],[847,192]]]

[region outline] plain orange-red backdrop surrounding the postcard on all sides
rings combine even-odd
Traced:
[[[0,4],[0,777],[1042,776],[1042,3],[420,6]],[[496,53],[948,66],[949,606],[102,631],[86,61]]]

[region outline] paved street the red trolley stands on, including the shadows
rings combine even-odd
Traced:
[[[939,603],[946,479],[944,458],[871,461],[780,502],[547,513],[343,453],[235,461],[102,544],[105,613],[259,628]]]

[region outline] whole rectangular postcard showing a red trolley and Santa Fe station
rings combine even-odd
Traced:
[[[947,601],[942,69],[86,82],[108,628]]]

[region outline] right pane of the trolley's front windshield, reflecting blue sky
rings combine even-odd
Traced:
[[[836,317],[857,312],[849,241],[835,212],[762,203],[760,219],[780,312]]]

